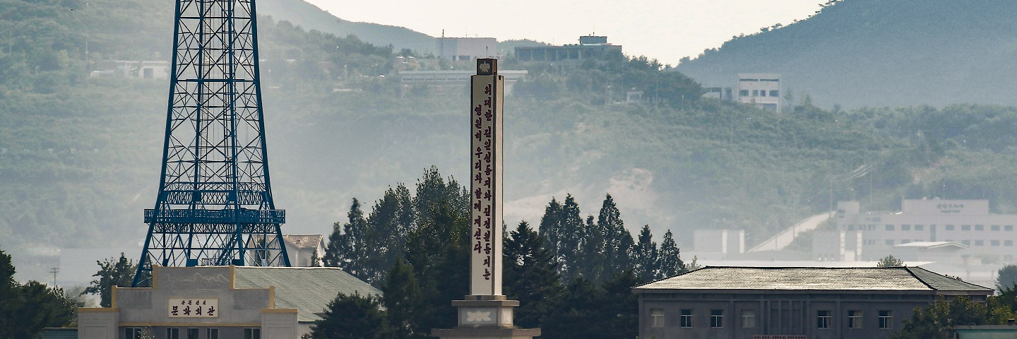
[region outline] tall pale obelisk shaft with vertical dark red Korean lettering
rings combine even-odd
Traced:
[[[470,294],[501,294],[501,98],[496,60],[478,59],[471,79]]]

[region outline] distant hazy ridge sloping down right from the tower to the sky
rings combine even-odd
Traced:
[[[340,37],[354,35],[376,46],[392,45],[395,51],[404,48],[419,54],[435,51],[434,38],[428,35],[406,27],[344,20],[341,18],[343,13],[330,13],[303,0],[261,0],[257,6],[259,15],[288,20],[307,31],[316,30]]]

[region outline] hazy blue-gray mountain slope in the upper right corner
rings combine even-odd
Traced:
[[[676,69],[704,86],[781,73],[821,107],[1015,105],[1017,2],[844,0],[787,26],[735,38]]]

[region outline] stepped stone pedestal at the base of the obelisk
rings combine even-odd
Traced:
[[[540,329],[519,329],[513,324],[513,312],[518,300],[504,295],[467,295],[465,300],[453,300],[459,308],[459,326],[454,329],[433,329],[431,335],[441,339],[532,339]]]

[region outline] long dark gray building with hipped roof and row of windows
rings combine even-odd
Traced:
[[[634,288],[657,339],[889,339],[914,307],[993,291],[918,267],[706,267]]]

